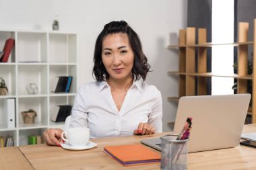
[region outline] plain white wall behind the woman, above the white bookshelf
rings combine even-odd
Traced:
[[[174,120],[177,103],[167,101],[178,95],[178,79],[167,71],[178,70],[177,52],[166,48],[170,33],[187,23],[187,0],[0,0],[0,28],[51,30],[58,15],[60,30],[79,33],[78,85],[93,81],[92,57],[96,37],[104,24],[125,20],[139,34],[143,50],[154,72],[148,83],[162,92],[164,130]],[[172,42],[177,42],[176,38]]]

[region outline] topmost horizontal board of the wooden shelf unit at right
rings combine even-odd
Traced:
[[[212,42],[206,42],[201,44],[191,44],[191,45],[170,45],[168,46],[169,49],[173,48],[185,48],[185,47],[212,47],[212,46],[243,46],[243,45],[250,45],[253,44],[252,41],[250,42],[234,42],[234,43],[212,43]]]

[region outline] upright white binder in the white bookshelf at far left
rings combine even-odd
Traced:
[[[3,107],[7,128],[15,128],[15,99],[5,99]]]

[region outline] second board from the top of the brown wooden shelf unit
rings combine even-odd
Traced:
[[[247,79],[247,80],[252,80],[253,77],[252,75],[216,75],[213,73],[184,73],[184,72],[179,72],[179,71],[168,71],[168,75],[191,75],[191,76],[198,76],[198,77],[230,77],[234,79]]]

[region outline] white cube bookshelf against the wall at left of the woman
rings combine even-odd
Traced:
[[[73,32],[0,30],[0,50],[5,40],[15,39],[8,62],[0,62],[0,77],[9,93],[0,95],[0,136],[13,136],[15,146],[28,144],[28,135],[41,135],[46,128],[63,128],[63,122],[51,122],[51,110],[57,105],[73,105],[77,91],[77,42]],[[69,93],[53,93],[58,76],[72,76]],[[26,91],[36,83],[38,93]],[[5,124],[4,101],[15,99],[15,128]],[[24,124],[21,112],[36,111],[34,124]]]

